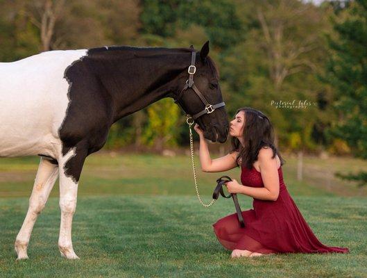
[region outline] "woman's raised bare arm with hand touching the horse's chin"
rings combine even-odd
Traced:
[[[199,157],[201,170],[203,172],[223,172],[237,167],[235,152],[212,160],[207,147],[207,139],[204,138],[203,133],[200,132],[201,130],[198,129],[198,126],[195,126],[194,129],[198,132],[200,138]]]

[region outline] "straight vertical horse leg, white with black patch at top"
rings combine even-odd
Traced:
[[[87,149],[74,147],[59,159],[60,175],[60,236],[59,250],[67,259],[79,259],[71,242],[71,223],[76,209],[78,181],[83,168]]]

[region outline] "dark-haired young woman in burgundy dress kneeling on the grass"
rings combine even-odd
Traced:
[[[200,164],[204,172],[223,172],[241,166],[241,182],[226,183],[229,193],[253,197],[253,209],[242,211],[245,227],[237,213],[225,216],[213,224],[219,242],[231,257],[262,256],[264,254],[348,253],[348,248],[323,245],[311,231],[283,181],[284,161],[274,146],[273,126],[262,112],[239,108],[230,122],[232,151],[211,159],[207,141],[198,124]]]

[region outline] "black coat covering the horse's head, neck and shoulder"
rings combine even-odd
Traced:
[[[64,76],[69,83],[69,105],[59,129],[62,155],[76,148],[76,155],[65,165],[67,175],[78,181],[85,157],[105,145],[114,122],[159,99],[175,97],[187,80],[191,53],[191,49],[162,47],[99,47],[89,49],[86,56],[69,65]],[[209,92],[205,76],[212,79],[217,72],[211,60],[204,61],[200,53],[196,56],[200,70],[197,80],[203,80],[200,89]],[[220,90],[210,93],[206,96],[209,101],[222,101]],[[186,94],[184,98],[189,113],[203,110],[198,97]],[[221,130],[223,140],[228,119],[224,109],[218,111],[200,117],[198,124],[210,128],[208,134]]]

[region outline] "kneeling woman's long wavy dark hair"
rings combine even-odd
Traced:
[[[257,161],[259,150],[262,147],[270,147],[273,149],[273,157],[278,154],[280,165],[284,164],[284,159],[280,156],[278,149],[274,145],[274,129],[270,120],[264,113],[250,107],[239,108],[236,112],[244,111],[245,126],[244,126],[244,146],[238,138],[232,137],[232,152],[239,152],[237,155],[237,165],[246,166],[248,169],[253,168],[253,163]]]

